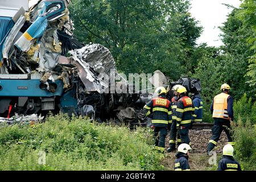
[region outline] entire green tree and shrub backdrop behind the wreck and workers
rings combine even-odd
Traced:
[[[188,0],[74,0],[70,11],[76,38],[108,47],[119,72],[200,78],[203,120],[212,122],[209,107],[224,82],[234,100],[256,100],[256,1],[241,2],[238,9],[226,5],[232,13],[220,27],[221,47],[196,44],[203,27]]]

